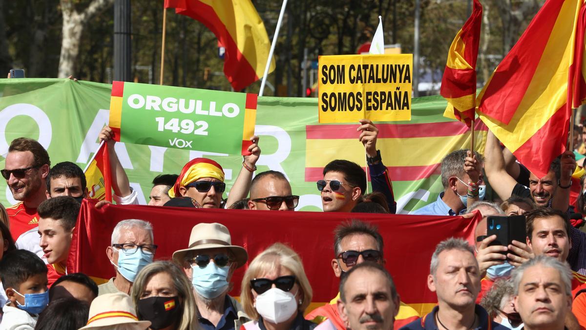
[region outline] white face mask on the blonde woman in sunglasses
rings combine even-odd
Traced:
[[[291,292],[271,288],[257,295],[256,310],[263,319],[278,324],[287,321],[297,311],[297,301]]]

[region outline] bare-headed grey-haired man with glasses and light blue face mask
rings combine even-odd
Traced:
[[[130,294],[139,271],[155,258],[152,225],[148,221],[128,219],[120,221],[112,231],[111,245],[106,255],[114,265],[116,277],[98,285],[98,295],[124,292]]]

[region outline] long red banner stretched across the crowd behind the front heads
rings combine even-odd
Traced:
[[[174,251],[189,246],[191,229],[197,223],[222,223],[231,233],[232,244],[248,251],[250,262],[275,242],[291,246],[304,264],[314,291],[314,304],[336,297],[339,279],[333,274],[333,230],[342,221],[356,218],[379,227],[384,239],[386,268],[393,275],[401,301],[416,311],[428,312],[437,298],[427,288],[431,255],[435,245],[449,237],[462,237],[473,244],[480,213],[474,218],[429,215],[384,215],[356,213],[271,212],[253,210],[206,210],[182,207],[114,206],[96,209],[84,200],[71,240],[68,272],[81,271],[103,283],[114,276],[106,257],[112,230],[120,220],[144,219],[152,223],[155,260],[170,260]],[[176,219],[176,221],[169,221]],[[231,295],[240,295],[246,265],[234,274]]]

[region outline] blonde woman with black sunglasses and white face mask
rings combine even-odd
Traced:
[[[244,274],[241,289],[242,306],[253,319],[243,324],[244,329],[315,328],[316,324],[303,317],[311,302],[311,286],[301,258],[287,245],[275,243],[257,255]]]

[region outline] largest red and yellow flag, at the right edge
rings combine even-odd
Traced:
[[[538,177],[567,143],[583,4],[547,0],[478,96],[482,121]]]

